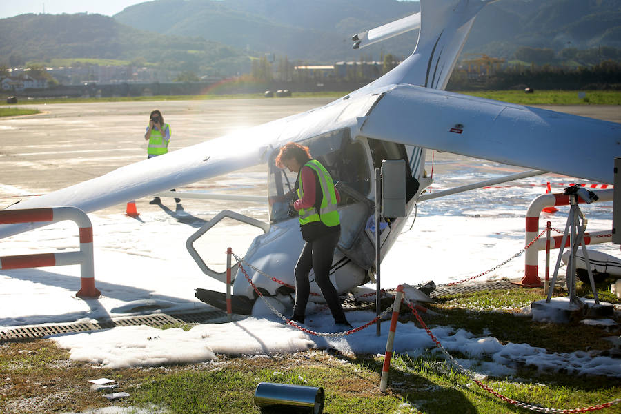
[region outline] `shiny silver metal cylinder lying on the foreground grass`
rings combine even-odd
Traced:
[[[308,408],[309,413],[321,414],[324,411],[324,388],[259,382],[255,389],[255,404],[261,408],[295,406]]]

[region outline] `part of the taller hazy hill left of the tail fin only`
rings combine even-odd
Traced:
[[[359,59],[351,36],[418,11],[419,3],[396,0],[159,0],[140,3],[115,19],[161,34],[201,36],[255,53],[290,60]],[[409,55],[417,34],[401,50]],[[379,59],[380,46],[364,53]]]

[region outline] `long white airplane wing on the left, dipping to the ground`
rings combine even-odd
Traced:
[[[321,108],[235,132],[166,155],[117,168],[106,175],[63,188],[9,208],[75,206],[90,213],[134,199],[262,164],[288,141],[357,126],[379,94],[337,99]],[[0,238],[44,224],[0,225]]]

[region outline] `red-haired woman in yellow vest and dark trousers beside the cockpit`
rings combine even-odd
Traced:
[[[326,168],[311,158],[308,147],[289,142],[280,148],[276,165],[297,172],[297,200],[293,208],[299,215],[302,239],[306,242],[295,265],[295,305],[291,320],[304,323],[306,304],[311,286],[308,274],[315,270],[315,282],[322,290],[326,304],[332,312],[335,323],[341,327],[351,327],[339,295],[330,282],[330,268],[341,235],[337,203],[338,190]]]

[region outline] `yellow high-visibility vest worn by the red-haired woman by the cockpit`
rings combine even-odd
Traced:
[[[339,213],[337,212],[337,199],[334,190],[334,181],[330,176],[330,173],[322,166],[322,164],[316,159],[311,159],[304,166],[313,168],[317,177],[319,177],[319,185],[322,186],[322,204],[317,208],[300,208],[299,210],[299,224],[313,223],[314,221],[322,221],[328,227],[337,226],[339,221]],[[302,199],[304,197],[304,188],[302,188],[302,174],[299,175],[299,183],[297,189],[297,197]]]

